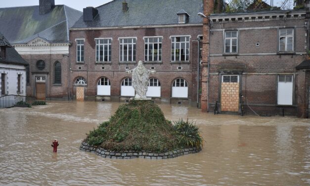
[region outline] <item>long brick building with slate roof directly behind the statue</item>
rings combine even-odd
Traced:
[[[147,96],[156,102],[197,105],[202,47],[202,0],[113,0],[84,15],[70,29],[73,96],[126,101],[139,60],[156,73]]]

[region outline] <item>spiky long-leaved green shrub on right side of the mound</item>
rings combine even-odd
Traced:
[[[199,135],[199,128],[194,125],[194,122],[183,121],[180,119],[174,122],[174,128],[178,135],[179,143],[184,147],[196,146],[197,148],[203,147],[204,139]]]

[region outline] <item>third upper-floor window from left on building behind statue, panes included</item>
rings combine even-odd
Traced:
[[[120,39],[120,61],[135,61],[135,38]]]

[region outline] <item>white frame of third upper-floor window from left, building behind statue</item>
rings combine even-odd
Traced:
[[[124,43],[124,40],[132,40],[132,43]],[[127,63],[127,62],[135,62],[136,61],[136,42],[137,42],[137,37],[123,37],[123,38],[118,38],[119,40],[119,61],[120,63]],[[135,40],[133,42],[133,40]],[[123,42],[122,42],[123,41]],[[127,45],[127,60],[124,60],[124,44]],[[132,47],[132,59],[129,60],[129,46],[131,45]],[[122,55],[121,55],[122,54]]]

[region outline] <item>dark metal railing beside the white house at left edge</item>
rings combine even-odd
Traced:
[[[36,101],[36,98],[24,95],[3,95],[0,96],[0,108],[13,107],[20,101],[32,104],[34,101]]]

